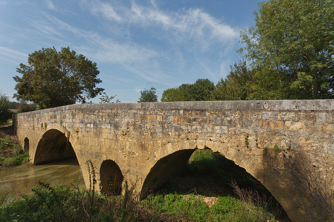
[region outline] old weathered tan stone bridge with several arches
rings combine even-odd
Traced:
[[[293,221],[303,212],[266,164],[297,143],[307,153],[333,156],[334,100],[204,101],[74,104],[20,113],[13,125],[32,164],[77,157],[97,167],[98,189],[115,191],[127,179],[154,189],[182,173],[197,149],[219,152],[258,179]],[[285,155],[284,155],[285,156]],[[108,180],[114,178],[110,185]]]

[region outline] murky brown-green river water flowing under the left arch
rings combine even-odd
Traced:
[[[79,182],[79,188],[83,189],[82,172],[76,159],[62,160],[41,165],[22,164],[19,166],[0,169],[0,187],[10,189],[10,197],[15,198],[20,194],[31,194],[31,188],[38,186],[38,181],[49,183],[51,186],[74,184]]]

